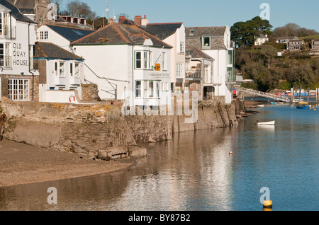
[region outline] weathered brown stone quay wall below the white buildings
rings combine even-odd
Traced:
[[[14,102],[3,98],[5,139],[105,160],[145,156],[146,142],[163,142],[179,132],[237,125],[236,104],[216,99],[198,104],[198,120],[184,115],[124,115],[122,105]]]

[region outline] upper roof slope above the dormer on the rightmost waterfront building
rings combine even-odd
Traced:
[[[185,28],[186,37],[201,37],[203,35],[221,37],[225,34],[226,27],[189,27]],[[192,31],[192,32],[191,32]],[[191,33],[193,35],[191,35]]]

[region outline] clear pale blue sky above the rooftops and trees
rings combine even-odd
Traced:
[[[72,0],[61,0],[62,8]],[[106,0],[79,0],[91,7],[98,16],[107,17]],[[273,28],[287,23],[296,23],[301,28],[319,32],[319,0],[107,0],[108,17],[125,13],[134,16],[146,15],[149,23],[183,22],[186,27],[230,27],[239,21],[248,21],[255,16],[269,16]],[[262,4],[267,8],[261,8]],[[261,15],[261,13],[263,13]]]

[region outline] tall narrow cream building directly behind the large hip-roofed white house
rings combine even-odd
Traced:
[[[183,23],[147,23],[141,28],[163,42],[172,45],[171,91],[184,89],[185,85],[185,26]]]

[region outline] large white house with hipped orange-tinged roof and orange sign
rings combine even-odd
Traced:
[[[172,46],[128,23],[110,25],[72,42],[85,59],[84,83],[96,83],[102,100],[133,105],[170,104]]]

